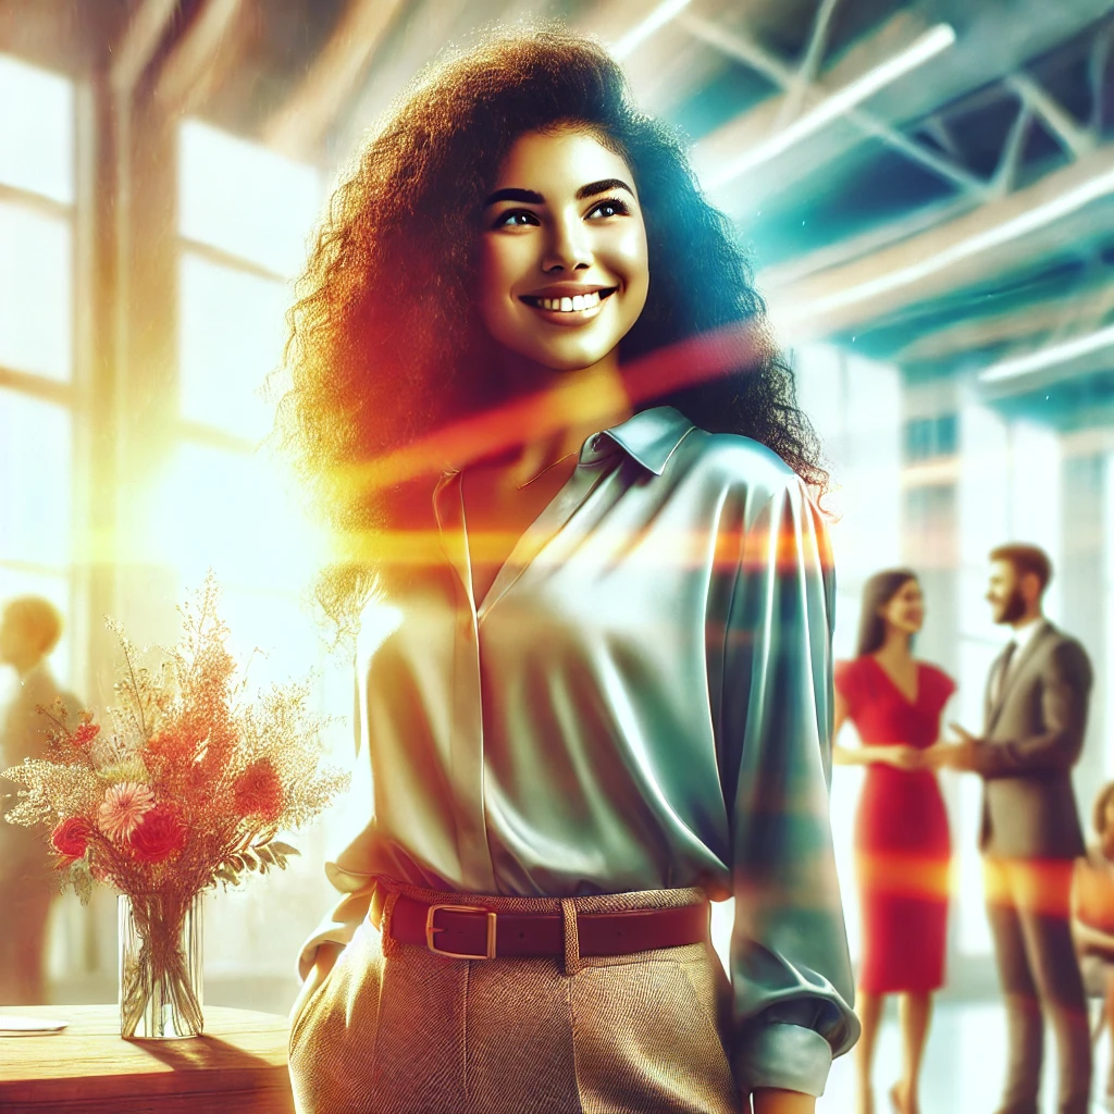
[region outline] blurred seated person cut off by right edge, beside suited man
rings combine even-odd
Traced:
[[[1111,1066],[1104,1108],[1114,1111],[1114,782],[1095,799],[1097,841],[1077,859],[1072,882],[1072,936],[1087,995],[1102,1001],[1095,1039],[1110,1034]]]

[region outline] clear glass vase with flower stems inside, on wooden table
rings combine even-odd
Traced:
[[[120,1036],[198,1036],[203,1026],[202,895],[121,893],[117,911]]]

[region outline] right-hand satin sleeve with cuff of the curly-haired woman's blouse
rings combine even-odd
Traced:
[[[732,1065],[746,1092],[823,1093],[859,1035],[832,852],[833,571],[795,477],[746,497],[717,744],[731,815]]]

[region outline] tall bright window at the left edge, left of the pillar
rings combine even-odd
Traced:
[[[0,55],[0,600],[74,615],[74,87]],[[51,665],[75,672],[71,627]]]

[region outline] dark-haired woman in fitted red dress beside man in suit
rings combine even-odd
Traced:
[[[859,1112],[872,1114],[870,1073],[887,994],[901,995],[905,1069],[890,1088],[896,1114],[920,1114],[918,1084],[932,991],[944,983],[950,839],[936,772],[925,751],[939,739],[955,683],[912,656],[925,622],[916,574],[891,569],[863,589],[857,656],[836,670],[834,737],[850,720],[862,745],[834,761],[864,765],[856,818],[862,905],[858,1014]]]

